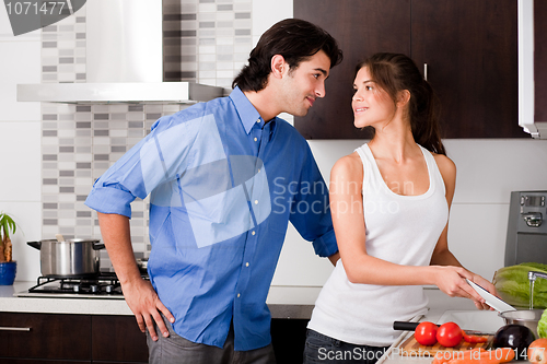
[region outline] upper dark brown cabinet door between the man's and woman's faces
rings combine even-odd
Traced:
[[[410,54],[410,0],[294,0],[294,17],[319,25],[344,51],[330,70],[326,97],[294,127],[306,139],[363,139],[353,126],[351,97],[359,61],[377,51]]]

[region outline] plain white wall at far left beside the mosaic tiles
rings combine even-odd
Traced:
[[[40,105],[18,103],[18,83],[40,82],[40,32],[13,36],[0,7],[0,211],[12,215],[18,280],[39,275],[39,253],[26,245],[40,238]]]

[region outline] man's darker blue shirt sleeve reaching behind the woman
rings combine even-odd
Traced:
[[[328,187],[309,148],[298,193],[292,203],[295,207],[291,209],[290,221],[304,239],[312,242],[315,254],[319,257],[329,257],[337,253]]]

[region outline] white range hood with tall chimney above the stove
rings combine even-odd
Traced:
[[[18,85],[18,101],[191,104],[224,89],[163,81],[162,0],[90,0],[86,82]]]

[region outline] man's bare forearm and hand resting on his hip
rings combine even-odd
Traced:
[[[140,330],[144,332],[146,328],[148,328],[152,340],[158,340],[153,322],[155,320],[163,336],[168,337],[167,328],[160,312],[171,322],[174,322],[175,318],[162,304],[152,284],[143,280],[140,274],[131,246],[129,219],[119,214],[101,212],[97,212],[97,215],[103,242],[121,284],[124,297],[135,314]]]

